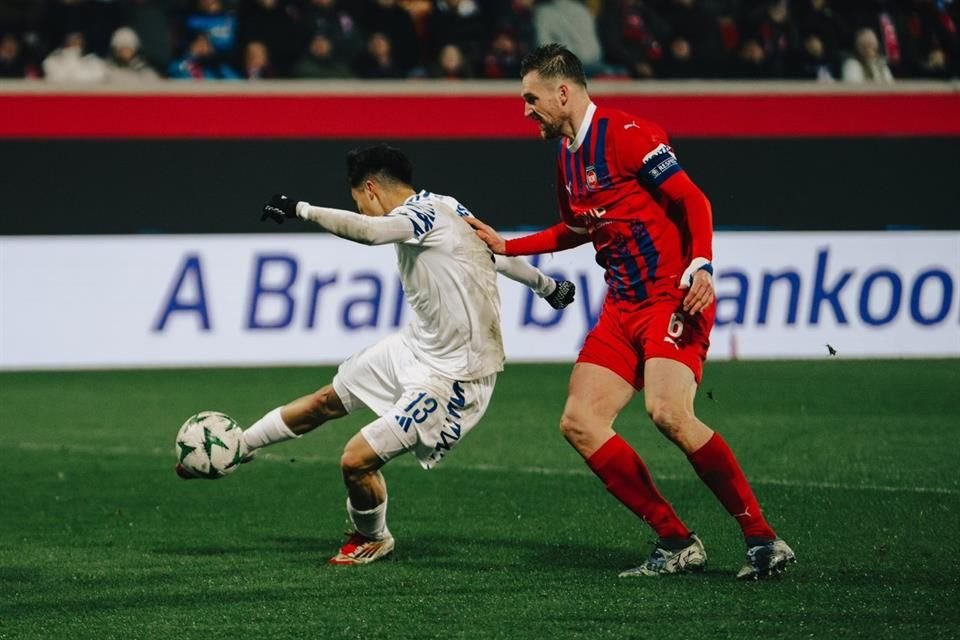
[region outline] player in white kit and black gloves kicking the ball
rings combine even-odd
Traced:
[[[355,531],[333,564],[365,564],[390,553],[387,487],[380,468],[411,452],[429,469],[479,422],[503,370],[497,273],[522,282],[556,309],[574,286],[529,263],[494,256],[461,218],[454,198],[411,186],[410,161],[374,146],[347,156],[351,195],[363,215],[276,195],[263,218],[301,218],[361,244],[393,243],[403,291],[415,313],[399,333],[354,354],[318,391],[270,411],[244,432],[252,453],[369,407],[379,418],[346,444],[340,467]],[[181,476],[188,475],[178,467]]]

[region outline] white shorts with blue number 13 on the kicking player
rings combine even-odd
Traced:
[[[333,389],[347,412],[366,406],[383,418],[361,430],[380,458],[410,451],[429,469],[480,421],[496,381],[496,374],[469,382],[439,374],[394,334],[341,364]]]

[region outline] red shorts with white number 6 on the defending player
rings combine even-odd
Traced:
[[[687,315],[684,295],[686,291],[678,289],[643,302],[608,297],[577,362],[610,369],[639,391],[644,362],[667,358],[687,365],[700,384],[717,307],[714,303],[695,316]]]

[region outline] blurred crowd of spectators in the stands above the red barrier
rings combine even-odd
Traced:
[[[956,78],[952,0],[3,0],[0,78]]]

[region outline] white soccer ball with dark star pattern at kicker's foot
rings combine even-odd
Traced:
[[[190,416],[177,433],[177,461],[199,478],[222,478],[243,459],[243,429],[219,411]]]

